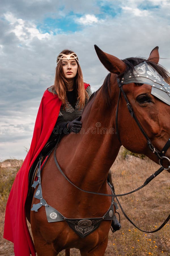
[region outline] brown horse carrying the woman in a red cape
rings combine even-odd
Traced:
[[[129,66],[136,66],[144,59],[120,60],[104,53],[98,47],[97,55],[111,72],[104,84],[89,100],[82,114],[82,130],[78,134],[63,137],[56,150],[59,166],[78,187],[87,191],[111,194],[107,176],[121,144],[128,150],[142,153],[155,162],[158,158],[147,145],[147,140],[128,112],[127,102],[120,96],[118,108],[118,132],[116,133],[116,106],[120,80]],[[150,53],[147,63],[155,67],[165,80],[168,73],[157,65],[158,47]],[[152,86],[131,82],[123,90],[135,115],[157,150],[161,151],[170,137],[170,106],[151,94]],[[170,149],[166,156],[170,157]],[[50,155],[41,175],[42,194],[46,202],[66,218],[101,218],[111,205],[111,197],[94,195],[78,190],[59,172],[53,154]],[[40,201],[33,198],[32,204]],[[31,211],[31,229],[38,256],[55,256],[66,249],[78,248],[82,256],[102,256],[108,242],[111,220],[103,220],[100,226],[85,238],[80,238],[65,220],[47,222],[45,207]]]

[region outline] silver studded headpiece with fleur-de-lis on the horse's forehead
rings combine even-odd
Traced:
[[[126,73],[121,79],[122,84],[139,83],[152,86],[151,94],[170,105],[170,85],[158,74],[156,69],[146,61],[134,67],[133,74]]]

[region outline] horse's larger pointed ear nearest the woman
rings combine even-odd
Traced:
[[[108,53],[102,51],[97,45],[94,45],[95,51],[101,63],[109,70],[111,73],[120,74],[126,70],[126,64]]]

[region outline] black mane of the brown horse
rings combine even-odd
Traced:
[[[156,69],[156,71],[163,77],[163,79],[165,79],[165,81],[167,83],[170,83],[169,72],[164,67],[162,67],[159,64],[154,63],[153,61],[149,61],[148,59],[139,58],[139,57],[131,57],[131,58],[127,58],[127,59],[122,59],[122,61],[126,64],[126,71],[121,73],[120,75],[118,75],[118,78],[122,78],[128,72],[132,73],[132,75],[133,75],[133,71],[135,70],[134,67],[137,66],[138,64],[142,63],[143,61],[146,61],[146,63],[148,65],[151,65],[152,67],[154,67],[154,69]],[[109,97],[109,91],[111,90],[110,75],[111,75],[111,73],[109,73],[106,76],[106,78],[103,82],[103,85],[101,86],[102,95],[103,95],[105,104],[107,106],[111,106],[111,101],[110,101],[110,97]]]

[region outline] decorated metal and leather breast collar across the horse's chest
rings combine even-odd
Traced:
[[[49,156],[50,154],[48,155],[48,158]],[[46,161],[48,160],[48,158],[46,159]],[[88,236],[94,230],[96,230],[99,227],[102,220],[113,220],[114,206],[116,207],[116,209],[118,209],[118,206],[114,201],[114,197],[112,197],[111,206],[109,207],[109,210],[107,210],[107,212],[101,218],[70,219],[70,218],[66,218],[58,210],[48,205],[46,200],[42,197],[42,187],[41,187],[41,171],[44,165],[46,164],[46,161],[41,168],[41,158],[39,158],[39,167],[36,174],[37,180],[34,181],[32,187],[36,188],[36,186],[39,184],[34,197],[39,199],[40,203],[33,204],[31,211],[37,212],[40,207],[45,206],[48,222],[66,221],[69,227],[72,228],[74,232],[78,234],[81,238]],[[112,191],[112,188],[111,188],[111,191]],[[112,191],[112,195],[113,193],[114,191]],[[69,213],[69,209],[68,209],[68,213]]]

